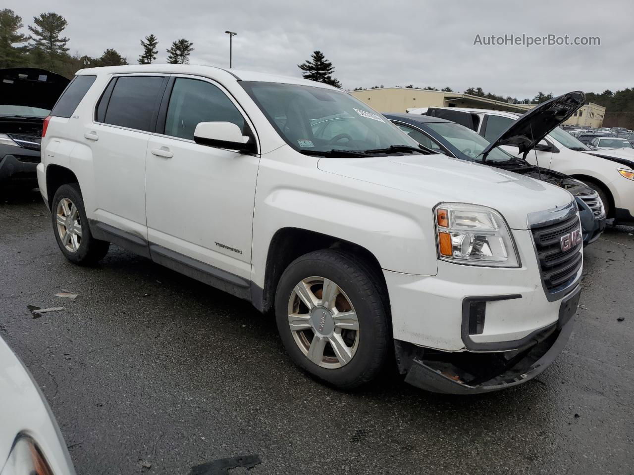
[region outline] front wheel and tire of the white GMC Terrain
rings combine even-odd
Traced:
[[[311,376],[342,389],[372,381],[389,359],[384,286],[357,258],[320,250],[280,278],[275,314],[283,345]]]

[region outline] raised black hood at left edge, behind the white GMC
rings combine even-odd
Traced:
[[[0,69],[0,104],[52,109],[70,80],[39,68]]]

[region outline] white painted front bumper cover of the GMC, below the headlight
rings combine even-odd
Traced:
[[[394,339],[444,352],[517,349],[522,341],[555,324],[561,298],[546,294],[527,230],[512,230],[521,267],[515,269],[458,265],[437,261],[435,276],[384,270],[389,290]],[[554,298],[553,298],[554,297]],[[479,331],[463,338],[465,299],[479,300],[486,317]],[[550,300],[552,301],[550,301]]]

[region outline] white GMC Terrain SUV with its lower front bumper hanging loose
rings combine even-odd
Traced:
[[[273,310],[294,362],[334,386],[396,352],[411,384],[496,390],[541,372],[571,332],[571,194],[431,156],[334,87],[87,69],[42,134],[39,186],[68,260],[115,243]]]

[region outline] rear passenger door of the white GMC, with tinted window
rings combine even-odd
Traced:
[[[113,77],[82,137],[93,155],[94,219],[144,240],[145,154],[166,84],[165,75]]]

